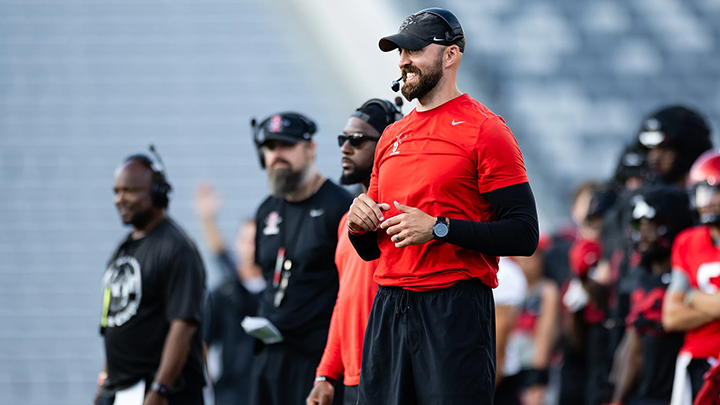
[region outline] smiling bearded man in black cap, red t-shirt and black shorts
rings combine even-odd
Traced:
[[[378,259],[358,404],[492,404],[498,256],[537,247],[535,200],[502,118],[456,85],[465,36],[432,8],[380,40],[418,106],[378,141],[350,240]]]

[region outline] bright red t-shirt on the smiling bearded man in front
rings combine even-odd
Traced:
[[[526,183],[520,148],[505,121],[463,94],[429,111],[413,110],[387,127],[375,149],[368,196],[397,201],[437,217],[493,222],[486,193]],[[381,255],[375,281],[414,291],[480,279],[497,287],[498,258],[449,243],[395,247],[378,232]]]

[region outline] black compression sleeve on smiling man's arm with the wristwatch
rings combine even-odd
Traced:
[[[498,221],[450,219],[445,242],[492,256],[531,256],[539,231],[530,184],[503,187],[486,195]]]

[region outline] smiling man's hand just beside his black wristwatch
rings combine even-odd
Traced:
[[[385,229],[395,247],[401,248],[433,240],[432,229],[437,219],[420,211],[395,201],[395,207],[402,212],[385,222],[380,227]]]

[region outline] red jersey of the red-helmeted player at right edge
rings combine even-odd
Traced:
[[[672,247],[673,270],[682,271],[690,286],[708,294],[720,287],[720,250],[713,244],[710,228],[696,226],[681,232]],[[720,319],[685,332],[681,352],[693,358],[717,357],[720,352]]]

